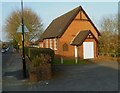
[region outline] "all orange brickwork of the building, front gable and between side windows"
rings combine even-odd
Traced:
[[[87,19],[87,17],[82,13],[82,18]],[[89,21],[82,21],[82,20],[76,20],[80,19],[80,13],[75,17],[73,22],[70,24],[70,26],[66,29],[64,34],[61,36],[61,38],[58,38],[57,40],[57,50],[55,51],[55,54],[65,56],[65,57],[74,57],[74,46],[70,45],[70,42],[75,37],[75,35],[82,30],[91,30],[93,35],[98,39],[98,33],[92,26],[92,24]],[[86,42],[94,42],[94,56],[97,56],[97,43],[94,39],[86,39]],[[44,42],[45,43],[45,40]],[[68,44],[68,51],[63,51],[63,44]],[[49,40],[48,40],[49,44]],[[50,44],[49,44],[50,45]],[[54,41],[53,41],[54,46]],[[50,46],[49,46],[50,47]],[[83,58],[83,45],[78,47],[78,55],[80,58]]]

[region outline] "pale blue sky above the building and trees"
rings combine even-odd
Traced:
[[[82,6],[88,16],[99,29],[100,21],[104,16],[115,15],[118,12],[117,2],[25,2],[24,7],[31,8],[42,19],[44,28],[56,17]],[[4,26],[6,18],[12,11],[20,9],[19,2],[3,2],[2,3],[2,26]],[[2,40],[5,40],[5,33],[2,32]],[[0,34],[1,35],[1,34]]]

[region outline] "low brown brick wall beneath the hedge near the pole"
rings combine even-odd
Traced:
[[[37,82],[40,80],[48,80],[52,77],[51,65],[43,64],[37,67],[30,67],[28,70],[29,80]]]

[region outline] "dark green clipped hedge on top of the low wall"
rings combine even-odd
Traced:
[[[52,63],[54,59],[54,51],[48,48],[25,47],[25,55],[33,63],[33,66]]]

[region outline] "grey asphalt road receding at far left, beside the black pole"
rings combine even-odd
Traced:
[[[21,80],[23,80],[22,59],[10,47],[8,52],[2,53],[2,90],[6,88],[6,85],[17,84]]]

